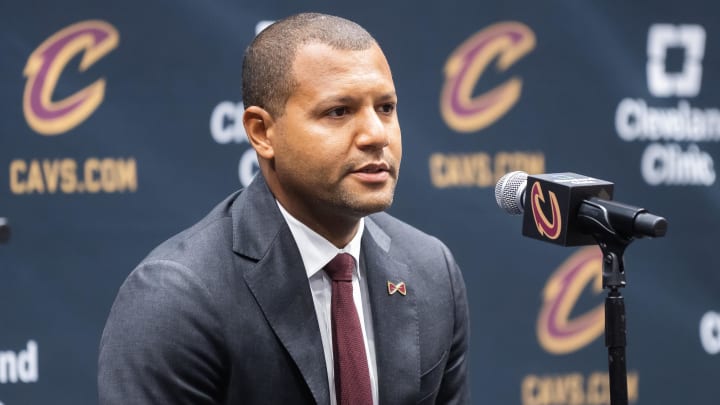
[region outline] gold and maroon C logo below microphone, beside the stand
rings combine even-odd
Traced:
[[[571,318],[573,308],[587,286],[591,286],[595,294],[602,292],[602,252],[597,246],[578,250],[545,284],[537,336],[548,352],[574,352],[603,333],[605,308],[602,304]]]

